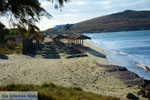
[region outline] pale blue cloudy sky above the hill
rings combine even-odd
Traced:
[[[41,5],[53,16],[51,20],[41,20],[38,24],[41,30],[124,10],[150,10],[150,0],[71,0],[62,11],[56,10],[54,4],[47,0],[41,0]]]

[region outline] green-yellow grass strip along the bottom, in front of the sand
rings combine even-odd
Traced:
[[[38,91],[39,100],[120,100],[117,97],[85,92],[80,87],[62,87],[53,83],[9,84],[0,86],[0,91]]]

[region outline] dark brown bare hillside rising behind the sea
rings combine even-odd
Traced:
[[[111,15],[101,16],[76,23],[70,28],[69,33],[94,33],[135,31],[150,29],[150,11],[126,10]],[[66,32],[66,29],[48,29],[46,32]]]

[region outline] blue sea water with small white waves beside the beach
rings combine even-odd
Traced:
[[[126,67],[140,77],[150,80],[150,72],[136,63],[150,65],[150,30],[88,33],[90,42],[103,48],[109,64]]]

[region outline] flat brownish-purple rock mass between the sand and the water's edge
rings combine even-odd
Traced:
[[[116,65],[103,65],[98,62],[94,62],[99,67],[105,68],[106,72],[111,73],[116,78],[121,79],[128,87],[138,85],[143,82],[143,79],[139,77],[136,73],[128,71],[125,67]]]

